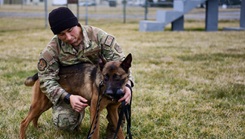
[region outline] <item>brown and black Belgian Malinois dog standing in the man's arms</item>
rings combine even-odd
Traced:
[[[96,113],[106,108],[112,119],[114,129],[118,122],[118,107],[120,103],[117,101],[120,95],[123,95],[123,87],[129,80],[129,68],[131,67],[132,56],[129,54],[122,62],[101,60],[99,65],[88,63],[78,64],[74,66],[61,67],[59,72],[59,84],[67,92],[73,95],[80,95],[88,100],[90,106],[90,123],[95,127],[92,137],[99,138],[99,119],[93,122]],[[34,85],[33,85],[34,84]],[[25,138],[25,132],[32,121],[34,127],[38,126],[38,118],[41,114],[52,107],[51,101],[40,90],[40,81],[38,75],[28,77],[25,81],[26,86],[33,85],[32,102],[28,115],[20,124],[20,138]],[[99,111],[97,102],[101,95]],[[91,133],[90,133],[91,134]],[[124,139],[123,131],[120,127],[118,139]]]

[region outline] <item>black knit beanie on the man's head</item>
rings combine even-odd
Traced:
[[[78,25],[78,20],[70,9],[59,7],[49,13],[49,25],[54,34]]]

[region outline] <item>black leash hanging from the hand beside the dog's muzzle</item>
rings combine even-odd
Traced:
[[[119,131],[119,128],[122,124],[122,120],[123,120],[123,116],[125,115],[126,120],[127,120],[127,136],[125,137],[126,139],[132,139],[132,133],[131,133],[131,104],[132,104],[132,96],[133,96],[133,91],[132,88],[129,87],[129,89],[131,90],[131,99],[130,99],[130,103],[129,105],[126,105],[125,101],[122,101],[121,103],[121,111],[119,113],[119,120],[117,122],[117,128],[116,128],[116,132],[114,135],[113,139],[117,138],[117,133]]]

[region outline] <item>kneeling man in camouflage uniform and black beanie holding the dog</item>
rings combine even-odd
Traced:
[[[123,60],[124,54],[116,39],[105,31],[82,26],[78,19],[66,7],[59,7],[49,13],[49,24],[54,37],[41,52],[37,65],[41,90],[46,94],[53,106],[54,124],[64,130],[74,130],[79,127],[87,100],[78,95],[66,92],[57,82],[60,66],[68,66],[81,62],[97,64],[98,53],[102,53],[107,61]],[[133,86],[132,77],[127,84]],[[124,87],[124,96],[119,101],[130,102],[131,91]],[[110,127],[110,117],[107,134]]]

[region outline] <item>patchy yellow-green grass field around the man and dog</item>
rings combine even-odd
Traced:
[[[52,33],[39,18],[0,20],[0,138],[16,139],[31,99],[31,88],[23,82],[36,72],[38,55]],[[239,26],[239,21],[220,21],[219,31],[205,32],[204,21],[189,20],[186,31],[168,27],[157,33],[139,32],[136,20],[89,23],[115,35],[125,54],[133,55],[133,138],[245,138],[245,32],[222,31]],[[44,113],[40,128],[31,124],[27,137],[86,138],[88,111],[75,133],[57,130],[51,117],[50,110]]]

